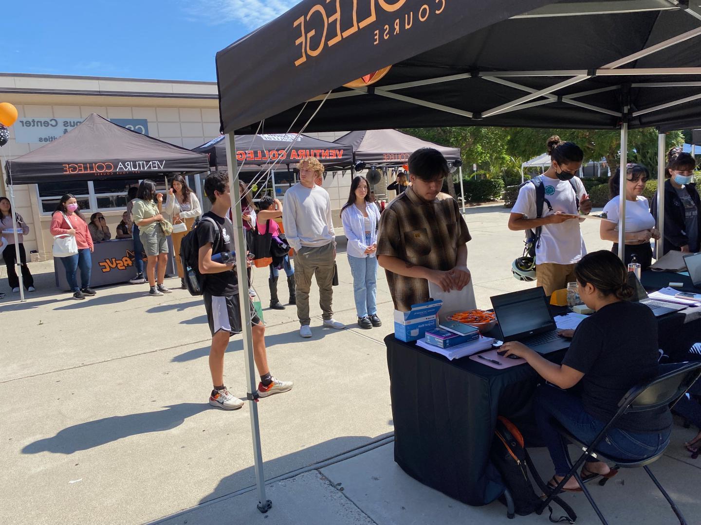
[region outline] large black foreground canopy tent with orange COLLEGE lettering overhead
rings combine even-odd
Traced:
[[[629,126],[699,122],[700,35],[686,0],[305,0],[217,53],[222,132],[235,151],[234,133],[261,120],[273,132],[608,128],[625,165]],[[658,153],[659,182],[662,133]],[[258,463],[257,475],[264,505]]]

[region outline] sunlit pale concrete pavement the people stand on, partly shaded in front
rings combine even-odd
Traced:
[[[510,274],[523,235],[508,231],[507,218],[501,205],[470,208],[465,216],[473,237],[468,265],[478,307],[489,307],[490,295],[533,286]],[[583,223],[590,251],[610,247],[598,239],[598,228],[598,221]],[[355,325],[348,261],[343,253],[337,260],[341,285],[334,288],[335,317],[347,323],[346,330],[320,328],[314,289],[311,339],[299,338],[294,307],[264,311],[271,370],[295,381],[290,393],[259,404],[266,479],[317,465],[393,430],[382,343],[393,332],[386,279],[380,271],[384,325],[361,330]],[[217,523],[411,522],[401,513],[385,516],[372,510],[369,505],[378,503],[363,500],[367,490],[361,493],[363,486],[372,486],[376,498],[398,503],[399,496],[415,500],[423,497],[421,491],[430,491],[408,478],[414,485],[402,484],[403,493],[390,490],[406,477],[391,461],[391,444],[271,486],[275,496],[268,497],[275,506],[265,516],[255,510],[254,492],[229,497],[254,483],[250,422],[247,406],[223,412],[207,405],[210,334],[201,300],[185,290],[149,297],[145,286],[121,285],[100,288],[96,297],[76,302],[53,288],[53,265],[31,267],[38,291],[22,304],[13,302],[18,297],[11,293],[0,301],[0,457],[5,472],[0,521],[137,524],[194,508],[196,519],[189,523],[207,523],[210,514],[219,516]],[[266,269],[254,270],[264,307],[266,279]],[[168,284],[177,286],[175,280]],[[280,297],[286,297],[285,288],[280,283]],[[240,337],[233,337],[225,379],[243,397],[241,349]],[[686,464],[684,476],[700,481],[695,466]],[[384,476],[388,472],[393,477]],[[360,489],[348,482],[339,498],[341,491],[334,487],[351,475],[353,487]],[[678,493],[684,494],[683,489]],[[491,519],[491,514],[470,514],[475,509],[453,500],[446,505],[460,507],[465,516]],[[224,514],[217,514],[217,508]],[[296,508],[318,514],[307,519]],[[495,519],[502,519],[500,512],[495,511]],[[329,519],[322,520],[325,516]],[[416,514],[419,521],[413,522],[427,522],[420,517]],[[182,519],[174,517],[172,523]]]

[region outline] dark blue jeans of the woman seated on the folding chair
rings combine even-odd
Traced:
[[[555,475],[565,476],[569,472],[566,460],[565,444],[559,432],[552,424],[558,421],[564,428],[585,443],[597,437],[605,423],[585,412],[582,400],[576,395],[560,390],[554,386],[541,385],[534,399],[536,423],[543,441],[550,451],[550,458],[555,465]],[[635,433],[620,428],[609,428],[604,439],[597,444],[601,454],[620,459],[642,459],[664,450],[669,444],[671,430],[662,433]],[[587,461],[598,461],[587,458]]]

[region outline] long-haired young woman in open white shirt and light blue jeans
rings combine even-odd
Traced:
[[[343,232],[348,239],[348,264],[353,274],[353,296],[358,326],[369,329],[381,326],[377,316],[377,224],[380,210],[369,195],[369,185],[363,176],[351,182],[348,202],[341,208]]]

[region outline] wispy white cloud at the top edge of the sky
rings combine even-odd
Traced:
[[[210,24],[239,22],[248,29],[256,29],[285,13],[299,0],[198,0],[184,6],[185,12],[194,17],[204,18]]]

